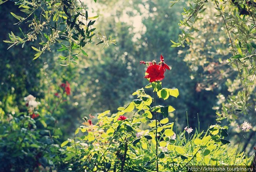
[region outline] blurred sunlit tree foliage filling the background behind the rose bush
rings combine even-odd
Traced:
[[[65,67],[59,65],[63,63],[58,60],[68,57],[65,59],[67,60],[72,54],[65,48],[65,51],[57,51],[61,44],[51,44],[51,52],[44,51],[32,61],[36,52],[31,50],[31,46],[39,46],[42,42],[40,35],[46,40],[44,34],[40,33],[37,40],[26,41],[23,48],[20,44],[7,51],[8,44],[0,45],[0,119],[5,127],[11,127],[7,119],[12,115],[17,118],[15,123],[19,126],[15,131],[23,128],[22,119],[19,118],[29,116],[26,114],[23,98],[32,94],[42,103],[42,118],[47,120],[49,115],[56,121],[54,125],[49,124],[41,129],[53,132],[51,127],[57,127],[61,131],[57,134],[60,138],[53,140],[53,143],[38,145],[44,147],[44,144],[53,144],[54,147],[54,144],[58,145],[67,138],[74,137],[75,128],[83,122],[83,116],[95,116],[107,109],[113,114],[118,107],[134,99],[131,94],[147,84],[147,80],[143,79],[144,66],[139,61],[151,61],[160,54],[172,68],[165,74],[163,87],[180,90],[177,99],[170,97],[166,101],[159,100],[159,104],[172,104],[176,108],[176,111],[170,113],[169,120],[175,121],[177,131],[182,131],[187,125],[186,112],[189,126],[197,127],[199,118],[200,128],[205,131],[208,125],[215,124],[215,112],[222,114],[228,119],[223,120],[222,124],[231,126],[227,139],[235,145],[240,142],[241,135],[236,125],[250,121],[255,126],[256,8],[253,1],[217,1],[218,5],[215,1],[190,1],[191,6],[187,1],[181,1],[180,4],[186,4],[187,9],[183,9],[180,4],[169,8],[171,4],[167,0],[108,0],[87,3],[85,8],[89,16],[99,15],[97,19],[93,19],[96,20],[95,33],[100,31],[103,36],[104,32],[108,36],[112,35],[108,43],[116,41],[117,45],[108,47],[106,42],[102,42],[105,38],[97,33],[92,39],[94,42],[83,48],[83,53],[79,46],[72,44],[72,40],[61,40],[79,58],[76,60],[78,64],[66,61],[70,65]],[[80,2],[77,4],[81,7]],[[200,10],[197,11],[197,7]],[[12,1],[0,5],[0,41],[10,41],[8,33],[11,31],[22,37],[18,27],[23,33],[30,32],[25,22],[18,27],[12,25],[17,23],[17,19],[10,12],[18,16],[24,15]],[[85,11],[83,12],[85,15]],[[35,15],[39,14],[40,12],[35,12]],[[190,16],[191,21],[184,23]],[[229,29],[234,52],[222,16]],[[34,18],[33,15],[31,17]],[[54,22],[49,24],[54,26]],[[68,35],[70,26],[66,27],[60,28],[66,29],[63,34]],[[45,32],[50,35],[49,28]],[[98,42],[102,44],[95,46]],[[106,47],[102,50],[103,45]],[[59,104],[59,99],[54,94],[60,92],[59,85],[66,81],[71,84],[71,95],[66,97],[67,101]],[[52,111],[53,109],[55,110]],[[97,119],[92,120],[94,124],[97,122]],[[40,133],[35,135],[39,137]],[[242,146],[239,148],[253,154],[255,127],[252,132],[242,135],[246,139],[241,140]],[[23,138],[23,135],[16,137]],[[46,153],[45,157],[49,158],[50,155]]]

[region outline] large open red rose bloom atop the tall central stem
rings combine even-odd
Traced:
[[[152,64],[147,67],[145,78],[149,78],[150,82],[154,81],[161,81],[165,76],[165,70],[163,69],[162,65],[159,64]]]

